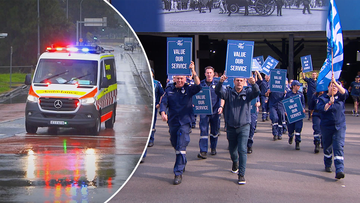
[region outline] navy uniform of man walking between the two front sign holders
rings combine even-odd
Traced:
[[[213,79],[213,81],[208,85],[206,80],[202,80],[200,85],[202,87],[209,87],[210,96],[211,96],[211,104],[213,108],[212,115],[200,115],[200,139],[199,139],[199,147],[200,152],[208,151],[208,135],[209,135],[209,124],[210,124],[210,148],[216,149],[219,129],[220,129],[220,114],[218,114],[218,110],[220,107],[220,98],[215,93],[215,86],[219,82],[217,79]]]

